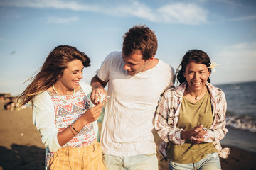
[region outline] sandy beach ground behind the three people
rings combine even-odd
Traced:
[[[0,170],[7,169],[44,169],[45,147],[36,127],[32,123],[32,110],[6,111],[0,103]],[[255,133],[230,130],[230,135],[223,140],[224,147],[232,149],[228,159],[221,159],[222,169],[256,169]],[[251,136],[249,136],[249,135]],[[161,143],[154,133],[156,145]],[[241,141],[245,142],[241,142]],[[242,145],[246,145],[245,149]],[[239,146],[240,148],[236,147]],[[159,170],[168,169],[161,154]]]

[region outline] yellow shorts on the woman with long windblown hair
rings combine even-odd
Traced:
[[[62,147],[50,159],[49,169],[105,170],[102,147],[97,141],[86,147]]]

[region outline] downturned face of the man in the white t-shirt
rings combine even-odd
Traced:
[[[127,70],[127,73],[131,76],[139,72],[146,71],[146,65],[148,60],[144,60],[142,53],[140,51],[134,52],[132,55],[125,56],[122,55],[124,60],[124,70]]]

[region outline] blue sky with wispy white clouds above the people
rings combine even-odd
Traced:
[[[154,30],[156,58],[177,69],[191,49],[220,64],[213,84],[256,81],[256,1],[251,0],[0,0],[0,93],[21,94],[58,45],[85,52],[90,83],[122,36],[137,24]]]

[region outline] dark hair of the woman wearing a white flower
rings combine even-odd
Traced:
[[[186,71],[186,66],[189,62],[195,62],[198,64],[205,64],[206,67],[210,66],[210,57],[203,52],[202,50],[188,50],[186,54],[183,56],[181,60],[181,64],[179,64],[178,69],[176,70],[176,79],[177,82],[182,84],[186,82],[186,78],[184,77],[184,72]],[[181,67],[181,69],[179,69]],[[210,69],[209,69],[210,71]],[[210,78],[208,77],[207,81],[210,83]]]

